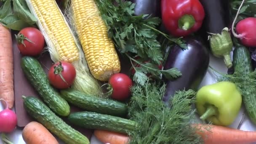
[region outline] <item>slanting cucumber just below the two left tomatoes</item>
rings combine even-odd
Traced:
[[[29,56],[22,57],[21,69],[29,82],[43,98],[43,101],[45,101],[53,112],[60,116],[69,115],[69,104],[60,96],[56,89],[50,85],[48,77],[37,59]]]

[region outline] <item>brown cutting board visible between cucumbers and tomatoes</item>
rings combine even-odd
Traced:
[[[21,54],[19,53],[19,49],[16,44],[15,37],[13,35],[13,57],[14,57],[14,93],[15,93],[15,111],[18,119],[17,126],[23,128],[25,125],[27,125],[29,122],[33,121],[34,119],[30,117],[27,112],[25,111],[23,107],[23,99],[21,99],[21,96],[35,96],[37,98],[40,98],[38,93],[34,90],[32,85],[30,85],[29,81],[25,77],[24,73],[21,69]],[[38,56],[38,59],[44,68],[45,72],[48,72],[48,68],[51,67],[53,64],[53,61],[51,61],[50,55],[48,52],[43,53],[41,56]],[[71,106],[71,112],[77,112],[77,111],[83,111],[82,109],[79,109],[77,107]],[[62,117],[64,121],[67,122],[67,120]],[[67,122],[68,123],[68,122]],[[89,139],[91,138],[92,130],[85,129],[85,128],[77,128],[73,125],[71,125],[76,130],[83,133],[85,136],[87,136]]]

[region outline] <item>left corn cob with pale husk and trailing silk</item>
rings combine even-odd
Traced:
[[[55,0],[26,0],[37,17],[37,25],[45,37],[54,62],[68,61],[76,68],[74,88],[89,95],[99,95],[99,83],[90,74],[83,50],[61,13]]]

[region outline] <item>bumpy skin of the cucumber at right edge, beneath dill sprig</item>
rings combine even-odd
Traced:
[[[249,118],[254,124],[256,124],[256,89],[251,88],[250,83],[248,83],[248,80],[246,80],[246,75],[253,72],[250,52],[246,47],[239,46],[235,48],[233,51],[233,65],[235,72],[240,74],[240,77],[243,77],[242,89],[246,91],[242,93],[243,104]]]

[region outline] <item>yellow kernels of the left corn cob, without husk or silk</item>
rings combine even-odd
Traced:
[[[38,19],[51,39],[60,60],[74,62],[79,51],[69,26],[65,23],[55,0],[30,0]]]

